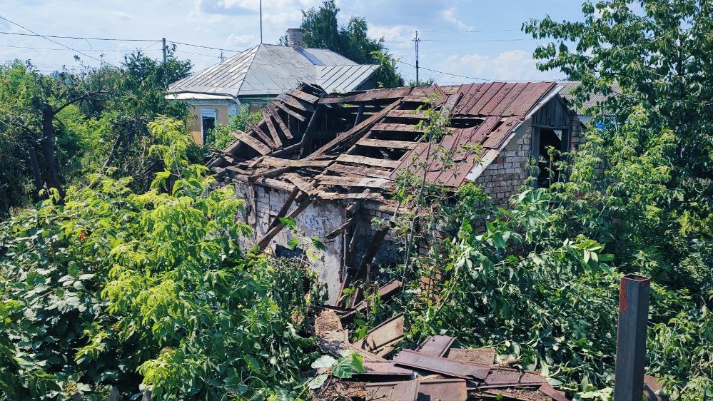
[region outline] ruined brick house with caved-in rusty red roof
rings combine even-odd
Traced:
[[[450,111],[438,146],[452,154],[452,166],[430,164],[428,181],[454,189],[475,181],[507,206],[532,175],[532,160],[577,143],[580,123],[560,89],[554,82],[493,82],[334,96],[302,85],[263,108],[263,119],[234,133],[236,141],[207,164],[244,198],[249,242],[278,256],[302,251],[288,246],[295,229],[325,243],[314,265],[335,303],[366,265],[398,262],[388,227],[371,223],[393,217],[395,178],[431,154],[418,124],[430,104]],[[547,185],[547,177],[534,185]],[[285,229],[280,218],[296,226]]]

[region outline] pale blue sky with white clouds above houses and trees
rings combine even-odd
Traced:
[[[276,44],[286,29],[299,27],[300,10],[321,1],[263,0],[263,43]],[[0,61],[30,60],[46,73],[62,66],[98,66],[101,61],[116,66],[123,54],[136,49],[160,59],[165,37],[168,44],[180,42],[176,56],[190,59],[193,71],[200,71],[221,61],[221,53],[228,57],[260,42],[259,4],[259,0],[0,0],[0,16],[37,34],[122,39],[49,41],[0,34]],[[370,36],[385,39],[400,59],[398,66],[407,81],[415,78],[411,65],[418,31],[419,76],[441,84],[561,79],[560,71],[537,70],[532,51],[547,42],[522,32],[522,23],[546,15],[557,21],[582,18],[582,0],[337,0],[337,6],[340,24],[361,16],[368,22]],[[29,33],[26,29],[0,19],[1,32]],[[81,60],[76,61],[75,55]]]

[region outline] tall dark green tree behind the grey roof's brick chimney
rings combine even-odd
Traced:
[[[403,78],[398,72],[396,60],[389,54],[384,39],[371,39],[368,26],[362,17],[353,16],[347,26],[339,26],[339,8],[334,0],[326,0],[319,8],[302,11],[305,46],[330,49],[359,64],[379,64],[376,81],[379,86],[393,88],[403,86]],[[287,37],[280,38],[280,44],[287,45]]]

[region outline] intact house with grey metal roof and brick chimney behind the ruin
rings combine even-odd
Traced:
[[[191,135],[205,142],[216,124],[241,108],[259,111],[273,98],[310,83],[343,93],[375,86],[378,65],[357,64],[327,49],[304,47],[302,29],[288,29],[288,46],[258,44],[221,63],[176,81],[168,98],[186,101],[195,117]]]

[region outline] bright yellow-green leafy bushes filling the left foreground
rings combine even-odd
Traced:
[[[150,124],[153,189],[99,177],[0,226],[0,399],[268,397],[304,385],[315,277],[243,255],[231,187],[188,163],[174,120]],[[166,188],[166,191],[163,191]],[[289,289],[289,290],[285,290]],[[296,386],[296,387],[295,387]],[[278,390],[278,389],[285,390]]]

